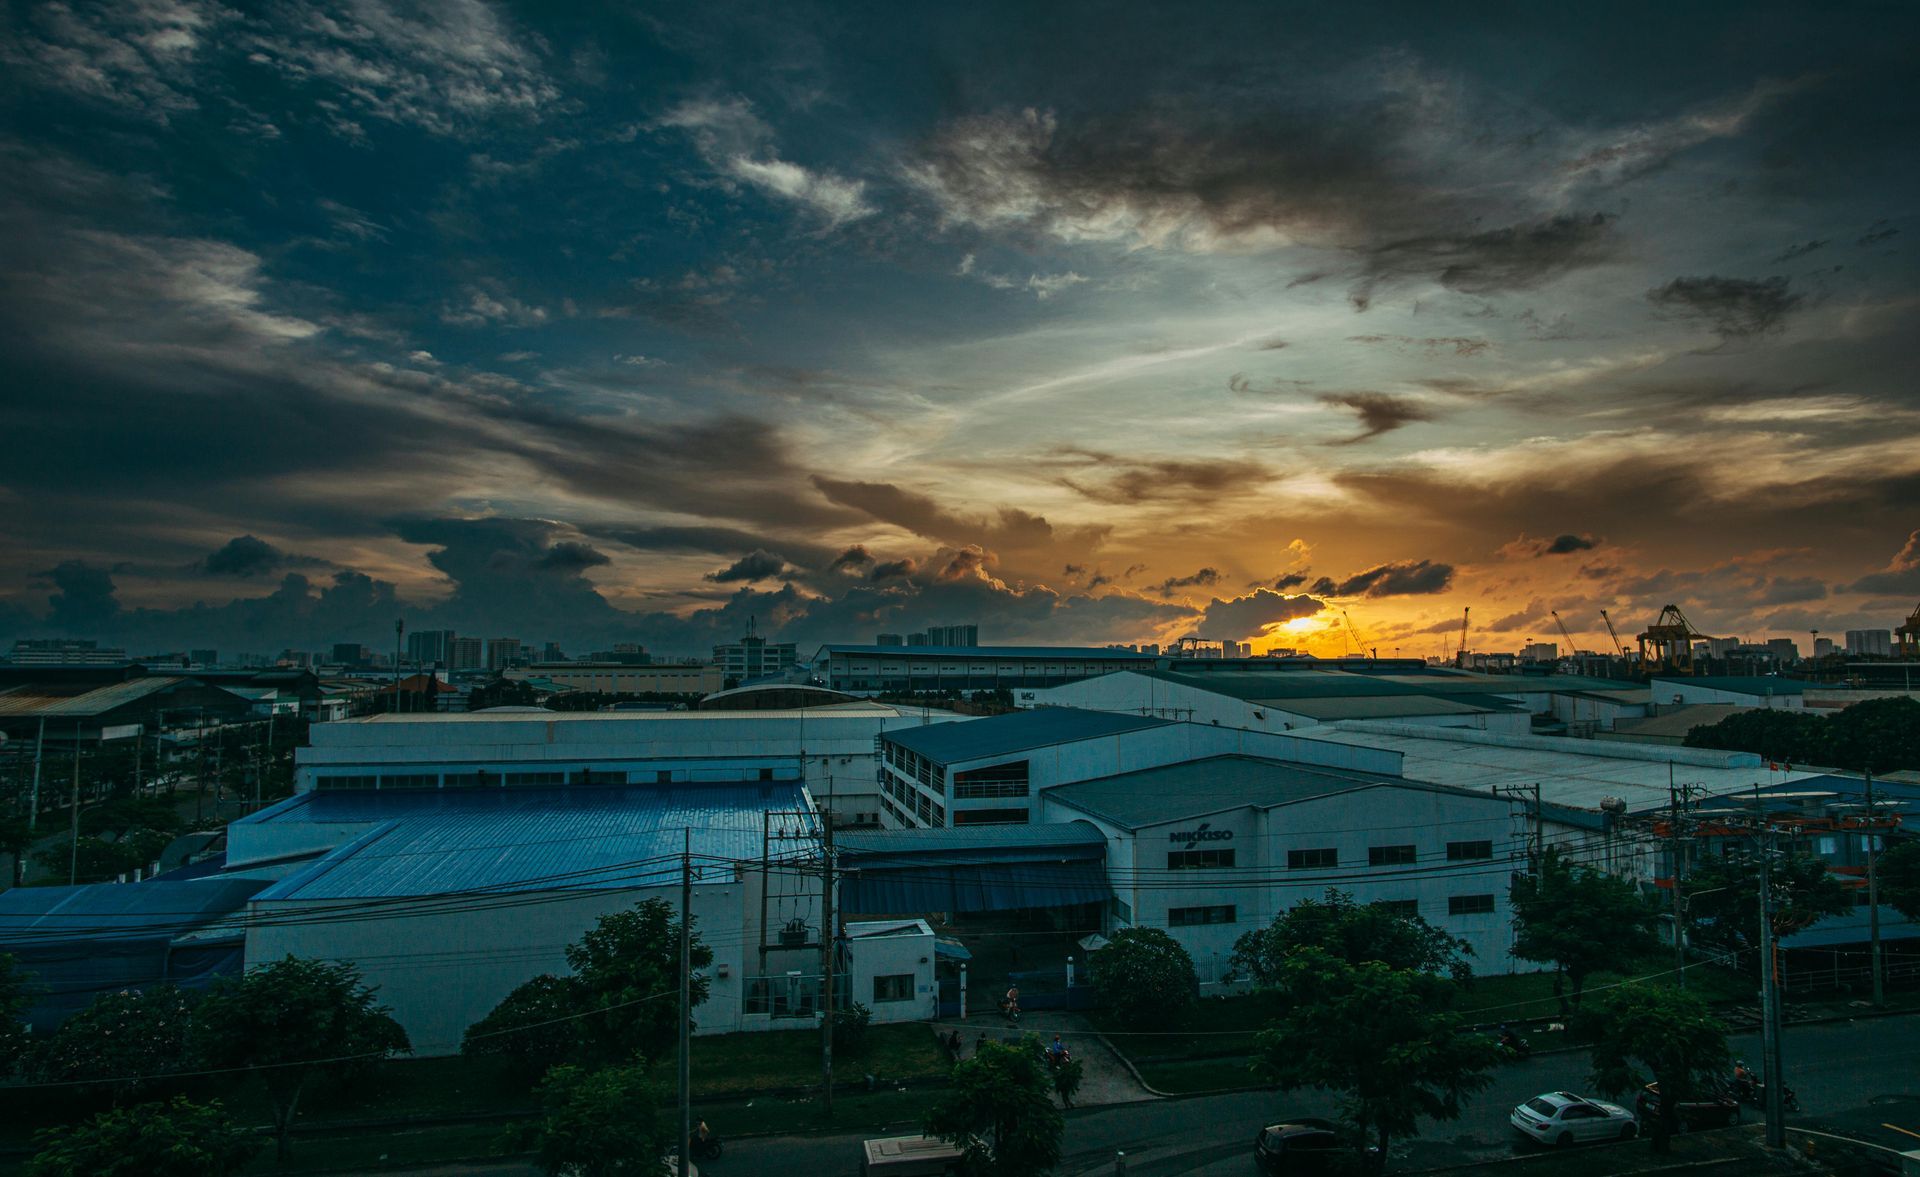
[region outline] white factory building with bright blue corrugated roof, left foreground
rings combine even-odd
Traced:
[[[680,906],[714,952],[699,1033],[820,1010],[818,824],[797,781],[301,793],[228,828],[230,870],[311,858],[248,901],[246,960],[355,964],[417,1054],[453,1054],[599,916]]]

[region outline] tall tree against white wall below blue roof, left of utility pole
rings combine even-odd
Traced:
[[[691,1002],[707,1000],[708,983],[699,975],[714,952],[695,931]],[[582,1012],[589,1014],[586,1039],[591,1056],[605,1062],[659,1058],[680,1041],[680,920],[664,899],[647,899],[624,912],[601,916],[566,947],[566,964],[580,979]]]

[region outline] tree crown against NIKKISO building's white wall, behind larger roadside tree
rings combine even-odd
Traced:
[[[1379,960],[1388,968],[1423,973],[1469,975],[1473,949],[1440,931],[1419,914],[1402,914],[1384,902],[1354,902],[1346,891],[1327,889],[1325,899],[1306,899],[1275,916],[1260,931],[1248,931],[1233,945],[1233,968],[1261,985],[1279,981],[1286,954],[1319,949],[1329,956],[1359,964]]]

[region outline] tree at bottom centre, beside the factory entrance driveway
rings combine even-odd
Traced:
[[[1039,1177],[1060,1164],[1066,1116],[1052,1100],[1041,1041],[981,1043],[954,1064],[952,1085],[927,1110],[927,1135],[950,1141],[962,1171]]]

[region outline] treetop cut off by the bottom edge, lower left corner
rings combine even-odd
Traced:
[[[221,1104],[175,1098],[42,1129],[29,1177],[225,1177],[259,1152]]]

